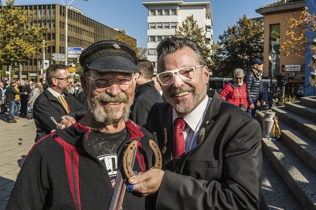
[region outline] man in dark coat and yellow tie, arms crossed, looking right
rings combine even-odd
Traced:
[[[35,142],[56,129],[62,116],[68,113],[87,113],[85,106],[70,94],[72,80],[67,66],[53,64],[46,70],[48,88],[40,94],[33,105],[33,118],[37,128]]]

